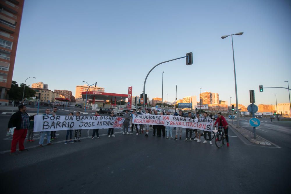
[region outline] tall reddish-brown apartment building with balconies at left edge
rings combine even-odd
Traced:
[[[0,1],[0,105],[8,105],[24,0]]]

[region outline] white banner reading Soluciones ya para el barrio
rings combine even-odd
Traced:
[[[155,124],[212,131],[212,119],[191,119],[172,115],[133,115],[134,124]]]

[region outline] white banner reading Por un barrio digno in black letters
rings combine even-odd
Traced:
[[[34,116],[34,132],[61,131],[66,129],[108,129],[123,126],[124,118],[97,116]]]

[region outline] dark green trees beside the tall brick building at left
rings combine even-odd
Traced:
[[[7,94],[9,95],[10,100],[22,100],[23,95],[23,87],[24,83],[21,83],[20,86],[18,86],[16,81],[12,81],[11,88],[7,91]],[[25,86],[24,91],[24,98],[29,98],[35,96],[36,92],[29,88],[28,86]]]

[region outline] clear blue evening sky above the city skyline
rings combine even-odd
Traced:
[[[26,0],[13,80],[44,82],[50,90],[71,90],[83,80],[105,92],[133,95],[143,91],[148,71],[157,63],[193,52],[186,59],[156,67],[146,93],[164,100],[219,93],[235,102],[233,37],[239,104],[289,102],[291,87],[290,1],[79,1]],[[197,98],[198,100],[199,98]]]

